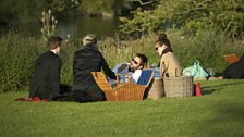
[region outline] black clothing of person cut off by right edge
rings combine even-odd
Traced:
[[[244,55],[223,71],[223,78],[244,79]]]

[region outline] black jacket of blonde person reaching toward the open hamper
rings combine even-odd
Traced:
[[[72,91],[77,96],[83,96],[81,98],[84,98],[85,101],[103,100],[103,94],[91,76],[91,72],[100,72],[101,68],[107,76],[115,79],[114,73],[109,68],[101,52],[93,46],[76,51],[73,60],[74,82]]]

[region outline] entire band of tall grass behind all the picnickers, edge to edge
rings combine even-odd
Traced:
[[[187,67],[198,60],[204,68],[211,67],[221,73],[229,64],[224,54],[244,53],[244,42],[232,40],[224,34],[198,32],[196,36],[185,36],[179,30],[167,32],[172,48],[183,67]],[[138,52],[148,58],[148,65],[159,63],[160,58],[155,52],[156,35],[148,35],[139,39],[121,40],[118,37],[107,37],[98,41],[99,50],[112,68],[120,62],[127,62]],[[9,34],[0,39],[0,92],[27,88],[33,73],[36,58],[45,51],[44,39],[27,37],[22,34]],[[60,57],[62,59],[61,82],[72,85],[73,53],[82,47],[68,36],[62,42]]]

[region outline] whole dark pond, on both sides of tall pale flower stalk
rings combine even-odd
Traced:
[[[118,32],[118,17],[89,17],[89,16],[65,16],[58,18],[58,32],[61,37],[71,35],[71,38],[81,38],[86,34],[93,33],[98,37],[114,36]],[[40,36],[41,23],[30,22],[25,24],[15,23],[11,26],[3,25],[0,27],[1,34],[8,33],[10,29],[24,32],[30,36]]]

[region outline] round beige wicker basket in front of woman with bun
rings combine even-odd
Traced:
[[[163,77],[166,97],[188,97],[193,95],[193,77]]]

